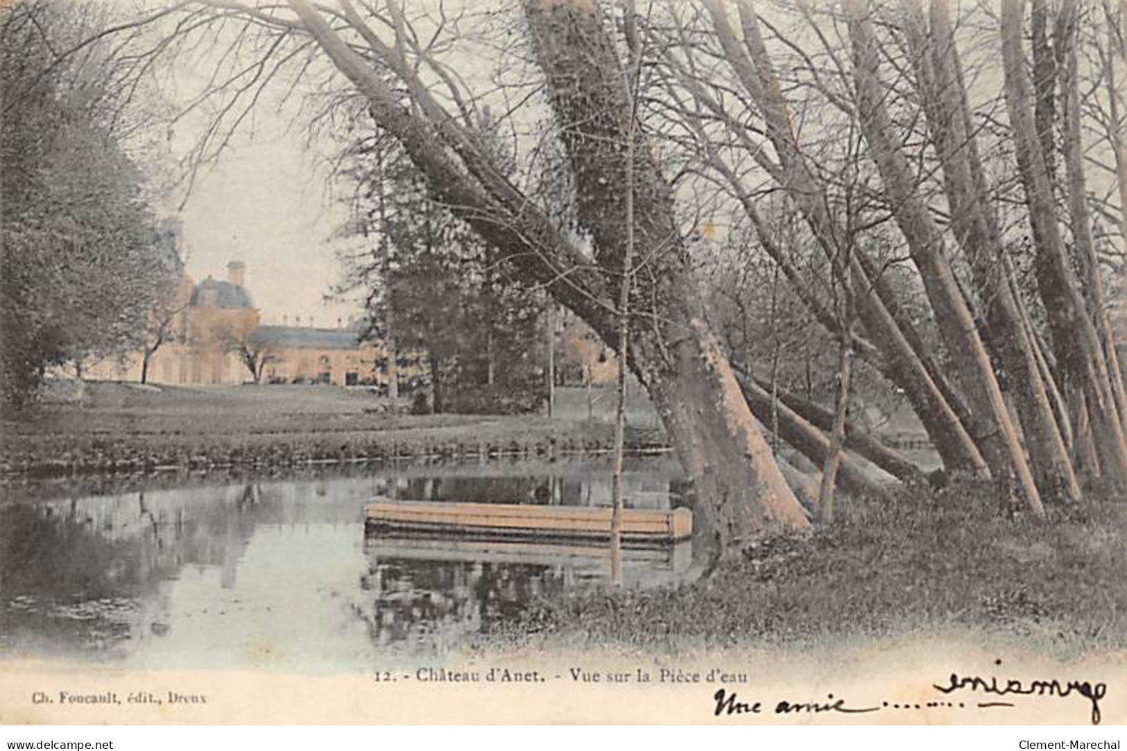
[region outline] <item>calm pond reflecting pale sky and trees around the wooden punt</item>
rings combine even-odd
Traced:
[[[681,470],[632,458],[627,504],[669,509]],[[610,460],[0,488],[0,656],[127,668],[356,671],[458,652],[538,595],[606,586],[597,545],[366,536],[400,498],[610,505]],[[703,536],[699,536],[703,537]],[[627,586],[695,575],[693,547],[623,553]]]

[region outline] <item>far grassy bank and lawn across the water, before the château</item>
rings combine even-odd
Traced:
[[[632,433],[636,447],[654,440],[649,427]],[[0,475],[557,456],[605,450],[611,441],[601,421],[391,415],[364,390],[91,383],[80,400],[0,423]]]

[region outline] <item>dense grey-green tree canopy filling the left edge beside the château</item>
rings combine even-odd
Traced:
[[[107,20],[34,0],[0,23],[0,388],[19,406],[48,366],[140,348],[180,259],[124,143],[109,43],[61,52]]]

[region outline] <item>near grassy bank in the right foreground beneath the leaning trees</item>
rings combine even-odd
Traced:
[[[1061,656],[1127,646],[1127,505],[1005,519],[976,494],[843,502],[807,540],[753,546],[677,589],[540,600],[492,647],[818,648],[912,634],[1019,638]]]

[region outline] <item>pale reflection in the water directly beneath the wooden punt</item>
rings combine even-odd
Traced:
[[[458,540],[434,537],[372,534],[369,551],[380,560],[427,560],[435,563],[489,563],[504,565],[603,568],[610,562],[605,545],[574,545],[526,540]],[[622,565],[650,572],[684,573],[692,563],[692,544],[666,547],[625,547]]]

